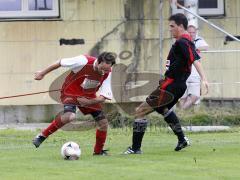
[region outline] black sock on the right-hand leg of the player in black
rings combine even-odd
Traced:
[[[168,123],[168,125],[173,130],[174,134],[178,137],[179,141],[184,141],[184,133],[180,124],[180,121],[176,114],[172,111],[170,112],[166,117],[164,117],[164,120]]]

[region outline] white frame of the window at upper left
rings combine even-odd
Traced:
[[[60,0],[52,0],[52,10],[29,10],[29,1],[22,0],[20,11],[0,11],[1,19],[52,19],[60,17]]]

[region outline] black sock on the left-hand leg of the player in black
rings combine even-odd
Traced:
[[[141,149],[142,139],[147,128],[146,119],[136,119],[133,123],[133,136],[132,136],[132,150],[137,151]]]

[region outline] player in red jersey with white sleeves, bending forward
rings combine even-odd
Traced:
[[[78,107],[83,114],[91,114],[97,123],[94,155],[107,155],[103,146],[107,137],[108,120],[102,111],[101,103],[106,99],[112,99],[111,68],[115,64],[115,59],[115,54],[111,52],[103,52],[98,58],[80,55],[61,59],[35,73],[35,80],[42,80],[46,74],[59,67],[71,69],[61,89],[64,112],[57,115],[52,123],[33,139],[36,148],[49,135],[73,121]],[[96,92],[99,92],[99,96]]]

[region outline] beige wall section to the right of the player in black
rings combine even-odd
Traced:
[[[226,0],[225,18],[210,19],[214,24],[222,27],[233,35],[240,35],[240,1]],[[208,25],[200,24],[200,33],[206,38],[210,49],[237,49],[240,50],[239,42],[229,42],[224,45],[225,35]],[[240,52],[204,54],[203,64],[211,85],[208,97],[240,98]],[[218,84],[222,83],[222,84]]]

